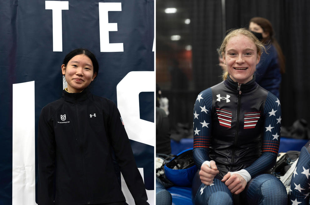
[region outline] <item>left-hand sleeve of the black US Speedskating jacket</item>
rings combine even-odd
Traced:
[[[38,205],[52,205],[55,198],[56,142],[53,126],[48,122],[44,108],[38,123]]]

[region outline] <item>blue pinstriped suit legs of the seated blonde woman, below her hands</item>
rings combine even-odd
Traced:
[[[287,192],[282,182],[271,174],[260,174],[247,183],[246,188],[239,194],[233,196],[227,186],[220,179],[214,179],[212,186],[205,186],[200,181],[197,189],[199,174],[195,175],[193,181],[193,194],[196,192],[195,204],[262,204],[262,205],[282,205],[287,204]],[[235,200],[234,200],[235,198]],[[237,200],[236,200],[237,199]],[[236,202],[238,201],[238,202]],[[240,201],[240,202],[239,202]]]

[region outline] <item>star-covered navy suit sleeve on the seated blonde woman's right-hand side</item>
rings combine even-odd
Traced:
[[[262,155],[249,167],[245,168],[253,178],[266,172],[276,163],[280,145],[281,106],[272,93],[268,93],[264,105],[264,127],[262,131]]]

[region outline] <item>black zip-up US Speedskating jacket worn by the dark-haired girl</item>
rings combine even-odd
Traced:
[[[43,107],[38,125],[39,205],[125,201],[111,148],[135,203],[148,204],[120,117],[111,100],[88,89],[64,90],[62,98]]]

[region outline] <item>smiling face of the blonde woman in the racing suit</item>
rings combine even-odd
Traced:
[[[244,84],[252,80],[259,59],[257,47],[249,37],[238,34],[227,41],[223,60],[233,81]]]

